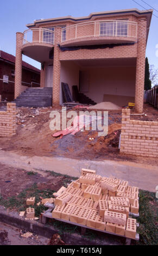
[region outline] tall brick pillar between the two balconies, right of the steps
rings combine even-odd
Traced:
[[[54,60],[53,60],[53,104],[59,105],[60,102],[60,70],[59,60],[60,49],[58,44],[61,43],[61,28],[55,28],[54,34]]]

